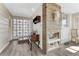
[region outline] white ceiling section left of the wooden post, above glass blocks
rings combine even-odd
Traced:
[[[5,3],[13,16],[32,17],[40,3]]]

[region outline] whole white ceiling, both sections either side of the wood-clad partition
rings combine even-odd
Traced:
[[[57,3],[64,13],[79,12],[78,3]],[[41,3],[4,3],[13,16],[32,17]]]

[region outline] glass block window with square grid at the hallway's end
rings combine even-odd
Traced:
[[[13,38],[27,37],[32,33],[32,21],[13,19]]]

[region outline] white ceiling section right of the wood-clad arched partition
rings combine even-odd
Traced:
[[[79,12],[79,3],[59,3],[62,12],[76,13]]]

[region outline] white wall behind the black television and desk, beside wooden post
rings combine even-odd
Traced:
[[[41,22],[33,24],[33,31],[37,31],[40,35],[40,48],[42,49],[42,4],[36,10],[34,17],[37,15],[41,16]]]

